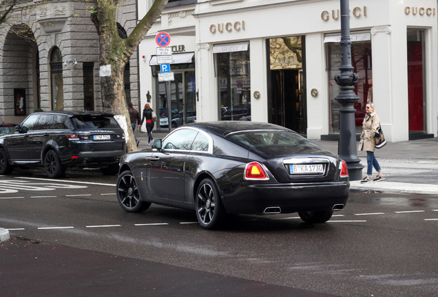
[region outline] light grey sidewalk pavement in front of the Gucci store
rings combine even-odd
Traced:
[[[164,138],[169,131],[154,131],[154,138]],[[147,133],[137,132],[139,148],[147,148]],[[337,155],[337,141],[315,140],[315,143]],[[357,143],[358,144],[358,143]],[[366,152],[358,151],[366,175]],[[376,149],[375,156],[384,174],[383,181],[362,184],[351,181],[353,190],[381,190],[438,195],[438,137],[406,142],[388,142]],[[373,169],[373,177],[377,175]]]

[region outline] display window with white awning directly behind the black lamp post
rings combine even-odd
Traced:
[[[326,44],[327,71],[328,71],[328,102],[330,104],[329,133],[339,133],[340,104],[335,100],[340,89],[336,84],[335,74],[340,73],[341,45],[335,42],[339,36],[328,36],[324,39]],[[356,132],[362,131],[362,122],[366,114],[366,102],[373,102],[373,68],[371,67],[371,36],[369,33],[352,34],[351,40],[351,65],[353,72],[359,75],[359,80],[354,86],[354,92],[359,97],[355,103]]]

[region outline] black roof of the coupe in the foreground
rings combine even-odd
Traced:
[[[203,131],[213,133],[216,135],[227,136],[230,133],[247,130],[277,130],[277,131],[289,131],[290,129],[284,128],[284,126],[278,126],[276,124],[269,124],[266,122],[250,122],[250,121],[217,121],[217,122],[195,122],[186,124],[185,126],[194,126]]]

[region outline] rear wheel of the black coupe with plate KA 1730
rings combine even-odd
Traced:
[[[196,218],[204,229],[217,228],[225,217],[218,188],[210,178],[203,179],[196,190]]]

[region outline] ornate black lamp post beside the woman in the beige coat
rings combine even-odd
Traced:
[[[362,179],[362,166],[357,157],[356,125],[354,104],[359,100],[353,91],[359,76],[353,72],[351,65],[350,12],[348,0],[341,1],[341,73],[335,75],[335,81],[340,86],[340,93],[335,100],[340,107],[340,135],[338,151],[348,167],[350,180]]]

